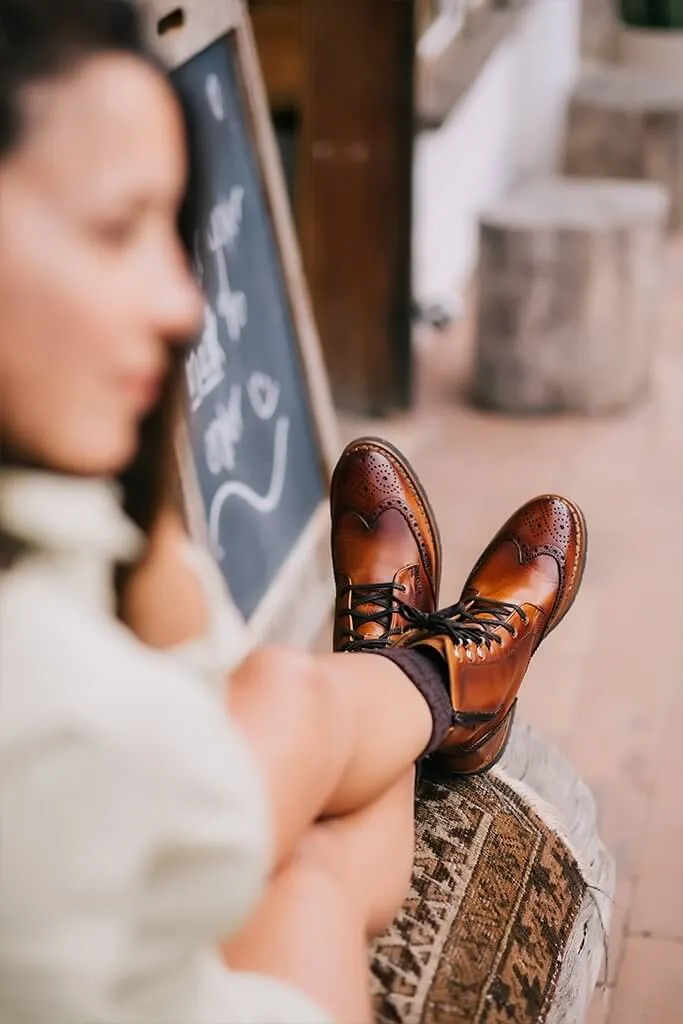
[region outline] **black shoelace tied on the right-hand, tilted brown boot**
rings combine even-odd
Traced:
[[[527,616],[518,604],[509,601],[493,601],[486,597],[473,597],[458,601],[440,611],[424,612],[408,604],[400,604],[399,611],[409,626],[424,630],[431,636],[447,636],[459,646],[474,643],[490,650],[492,644],[502,644],[503,638],[497,630],[506,630],[514,636],[516,630],[510,617],[516,613],[522,623]]]

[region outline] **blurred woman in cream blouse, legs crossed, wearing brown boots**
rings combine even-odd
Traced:
[[[352,653],[264,650],[213,685],[205,569],[135,462],[201,316],[184,148],[125,0],[0,0],[0,1019],[357,1024],[415,762],[499,756],[583,523],[531,503],[436,613],[419,484],[353,445],[333,489]]]

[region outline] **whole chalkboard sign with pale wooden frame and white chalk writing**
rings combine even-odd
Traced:
[[[327,610],[334,418],[246,12],[230,0],[166,14],[169,5],[152,6],[162,43],[169,37],[176,56],[189,50],[170,62],[198,163],[193,236],[205,318],[185,366],[185,490],[239,617],[262,639],[288,600],[290,609],[306,603],[301,587],[315,564],[310,624]],[[292,629],[282,638],[296,640]]]

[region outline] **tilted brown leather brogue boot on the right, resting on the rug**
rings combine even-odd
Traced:
[[[457,604],[433,614],[404,609],[416,629],[398,645],[445,662],[454,715],[433,755],[440,768],[477,774],[502,756],[531,655],[573,604],[585,564],[583,513],[544,496],[508,519]]]

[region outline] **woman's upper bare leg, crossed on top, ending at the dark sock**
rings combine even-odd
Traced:
[[[278,864],[315,820],[352,814],[389,790],[432,729],[413,683],[371,654],[259,651],[232,677],[229,703],[264,774]]]

